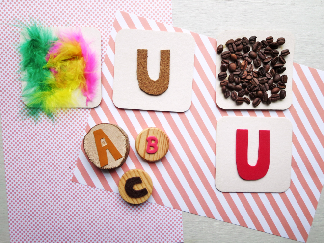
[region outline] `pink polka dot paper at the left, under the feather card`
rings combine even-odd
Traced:
[[[102,58],[116,10],[172,24],[170,0],[1,0],[0,23],[29,16],[49,26],[93,26]],[[19,111],[18,27],[0,25],[0,106],[12,243],[182,242],[182,213],[72,183],[89,109],[58,110],[58,123],[35,124]]]

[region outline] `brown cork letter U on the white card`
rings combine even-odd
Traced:
[[[147,94],[160,95],[169,87],[170,50],[160,52],[159,79],[152,80],[147,70],[147,49],[137,49],[137,80],[139,88]]]

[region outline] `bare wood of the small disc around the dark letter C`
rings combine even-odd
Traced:
[[[137,197],[137,198],[133,198],[127,195],[126,190],[125,190],[125,184],[126,184],[126,180],[132,177],[140,177],[140,179],[142,180],[142,183],[140,184],[135,184],[133,186],[134,190],[141,190],[146,188],[147,190],[147,194],[145,196],[142,197]],[[139,204],[142,202],[145,202],[152,194],[153,191],[153,183],[152,183],[152,179],[149,176],[148,173],[146,173],[144,170],[141,169],[131,169],[129,171],[127,171],[121,178],[118,184],[118,190],[120,195],[122,196],[122,198],[128,202],[128,203],[132,203],[132,204]]]

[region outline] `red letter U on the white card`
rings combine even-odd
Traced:
[[[247,162],[248,130],[236,130],[236,166],[244,180],[258,180],[264,177],[270,163],[270,131],[259,131],[259,157],[255,166]]]

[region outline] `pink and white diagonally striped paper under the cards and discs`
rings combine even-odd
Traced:
[[[112,103],[114,49],[123,28],[176,31],[196,41],[192,103],[184,113],[123,110]],[[305,242],[324,182],[324,72],[294,64],[293,105],[284,111],[222,110],[215,101],[216,40],[184,29],[117,12],[102,68],[103,100],[91,109],[86,131],[98,123],[121,126],[130,137],[130,155],[116,170],[102,171],[80,150],[73,181],[118,192],[119,178],[133,168],[153,179],[149,198],[168,207],[216,218]],[[285,193],[222,193],[215,187],[216,123],[222,116],[287,117],[293,123],[290,189]],[[135,139],[147,127],[170,138],[160,162],[147,163],[135,151]],[[278,140],[280,142],[280,140]]]

